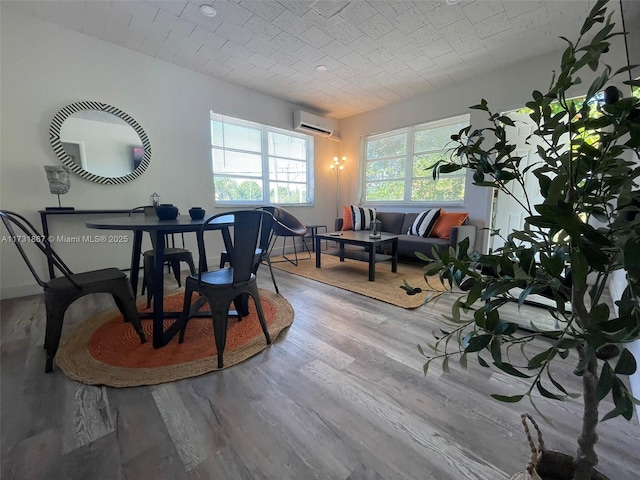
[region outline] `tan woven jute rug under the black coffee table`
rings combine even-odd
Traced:
[[[399,262],[396,273],[391,271],[391,262],[377,263],[376,279],[370,282],[369,264],[367,262],[348,258],[341,262],[338,257],[333,255],[322,255],[322,268],[316,268],[315,254],[309,260],[301,259],[298,261],[298,266],[292,265],[287,261],[281,262],[280,260],[282,260],[282,257],[271,259],[274,268],[402,308],[420,307],[424,304],[427,295],[433,297],[445,290],[437,276],[428,277],[427,282],[424,277],[424,265],[418,263]],[[407,295],[400,288],[405,281],[414,288],[419,287],[422,292],[415,295]]]

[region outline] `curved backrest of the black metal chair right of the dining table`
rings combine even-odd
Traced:
[[[256,248],[260,247],[263,234],[270,238],[273,230],[273,215],[264,210],[238,210],[209,217],[202,225],[198,235],[198,250],[204,256],[204,233],[210,230],[216,218],[233,215],[233,245],[227,248],[233,259],[233,283],[246,282],[251,278],[255,265]],[[198,281],[202,279],[202,267],[198,269]]]

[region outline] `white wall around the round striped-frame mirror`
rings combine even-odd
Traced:
[[[22,213],[36,225],[38,210],[57,205],[43,166],[60,164],[48,131],[53,116],[67,104],[95,100],[120,108],[144,128],[152,148],[148,170],[125,185],[99,185],[72,176],[71,190],[61,199],[64,206],[77,209],[133,208],[148,204],[155,191],[162,202],[174,203],[183,213],[193,205],[215,213],[209,111],[292,127],[296,105],[0,8],[0,207]],[[315,145],[315,207],[291,211],[303,222],[332,225],[335,180],[328,164],[339,154],[340,144],[316,138]],[[52,234],[101,233],[84,226],[89,219],[55,217]],[[72,269],[82,271],[128,267],[130,245],[56,248]],[[219,251],[220,245],[207,250],[210,255]],[[38,291],[16,257],[13,245],[0,244],[1,298]],[[44,262],[38,267],[46,272]]]

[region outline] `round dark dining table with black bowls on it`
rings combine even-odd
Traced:
[[[164,311],[164,249],[165,235],[172,233],[195,232],[200,234],[202,225],[206,219],[193,220],[188,215],[179,215],[175,220],[159,220],[157,217],[143,214],[132,214],[127,217],[113,217],[104,220],[94,220],[86,222],[88,228],[100,230],[128,230],[133,232],[133,249],[131,252],[131,286],[133,291],[138,291],[138,273],[140,270],[140,256],[142,254],[142,235],[149,232],[155,237],[155,255],[153,265],[153,285],[155,288],[153,295],[153,312],[150,314],[153,319],[153,347],[160,348],[166,345],[179,329],[179,322],[174,322],[169,328],[164,329],[165,318],[178,318],[182,312]],[[233,226],[233,215],[219,217],[207,226],[207,230],[220,230],[224,245],[227,251],[231,251],[231,236],[229,227]],[[199,259],[200,269],[206,270],[206,255],[201,252]],[[144,315],[142,315],[144,318]]]

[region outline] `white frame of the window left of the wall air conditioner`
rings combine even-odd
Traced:
[[[218,177],[227,177],[229,175],[224,173],[215,172],[215,167],[213,165],[213,149],[220,149],[219,146],[215,146],[213,144],[213,138],[211,138],[211,165],[213,172],[213,182],[214,182],[214,201],[216,206],[259,206],[264,204],[270,205],[289,205],[289,206],[313,206],[314,202],[314,138],[311,135],[306,135],[304,133],[293,132],[291,130],[286,130],[283,128],[272,127],[270,125],[264,125],[257,122],[251,122],[249,120],[243,120],[240,118],[230,117],[227,115],[221,115],[215,113],[213,111],[210,112],[210,120],[209,120],[209,130],[212,129],[213,121],[222,121],[228,124],[238,125],[238,126],[246,126],[248,128],[260,130],[260,138],[261,138],[261,146],[260,146],[260,156],[261,156],[261,166],[262,166],[262,200],[216,200],[215,199],[215,178]],[[269,155],[269,133],[277,133],[280,135],[286,135],[293,138],[301,138],[306,141],[306,160],[300,159],[291,159],[295,161],[305,161],[307,164],[307,174],[306,180],[304,182],[307,191],[307,198],[304,202],[300,203],[286,203],[286,202],[277,202],[275,199],[271,197],[271,189],[270,183],[272,179],[269,178],[269,159],[271,158]],[[242,153],[242,150],[225,148],[222,150],[231,151],[231,152],[239,152]],[[256,155],[256,152],[249,152],[252,155]],[[277,157],[277,158],[286,158],[286,157]],[[238,175],[234,174],[234,177],[238,177]],[[254,179],[256,177],[247,177]],[[277,180],[273,180],[273,182],[277,182]],[[279,182],[282,183],[282,182]],[[287,183],[287,182],[285,182]],[[300,183],[302,182],[289,182],[289,183]]]

